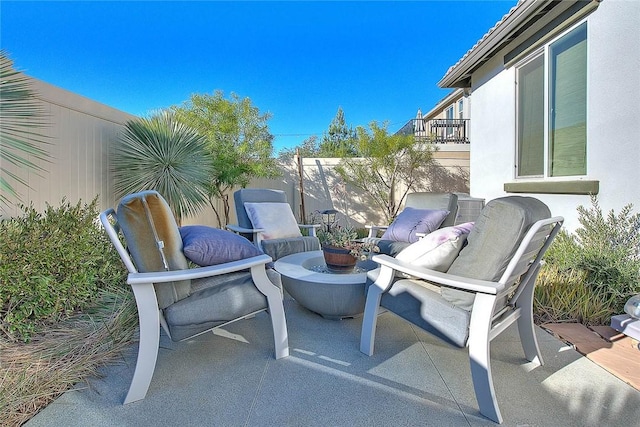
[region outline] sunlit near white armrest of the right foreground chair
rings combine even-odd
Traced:
[[[406,262],[398,261],[397,259],[390,257],[389,255],[375,255],[371,259],[381,266],[389,267],[393,270],[401,271],[403,273],[407,273],[411,276],[415,276],[423,280],[428,280],[429,282],[448,286],[451,288],[461,289],[464,291],[497,295],[505,287],[502,283],[499,282],[470,279],[468,277],[455,276],[453,274],[416,267]]]

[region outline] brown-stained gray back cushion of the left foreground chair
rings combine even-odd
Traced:
[[[165,271],[154,228],[158,240],[164,243],[163,252],[169,270],[184,270],[189,267],[182,253],[182,238],[176,220],[171,208],[158,192],[142,191],[125,196],[118,205],[116,216],[127,241],[127,249],[139,272]],[[166,308],[189,296],[190,289],[189,280],[157,285],[159,307]]]

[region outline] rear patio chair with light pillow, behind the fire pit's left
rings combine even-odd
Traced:
[[[287,195],[281,190],[243,188],[233,193],[238,224],[227,225],[261,248],[273,260],[299,252],[320,250],[316,229],[298,224]],[[303,236],[300,229],[306,229]]]

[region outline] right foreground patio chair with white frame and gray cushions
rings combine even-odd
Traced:
[[[379,307],[451,345],[468,346],[480,413],[501,423],[490,342],[517,320],[525,357],[543,363],[533,323],[533,291],[542,256],[564,221],[550,216],[547,206],[531,197],[492,200],[446,272],[374,256],[381,269],[367,290],[360,351],[373,354]],[[410,278],[398,278],[402,273]]]

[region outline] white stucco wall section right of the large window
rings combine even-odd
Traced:
[[[640,211],[640,2],[606,0],[588,25],[588,171],[603,207]]]

